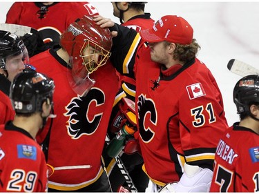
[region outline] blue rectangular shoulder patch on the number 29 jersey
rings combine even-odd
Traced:
[[[17,145],[18,158],[37,159],[37,149],[35,146]]]

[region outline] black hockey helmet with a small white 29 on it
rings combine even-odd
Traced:
[[[54,88],[54,81],[39,72],[24,70],[19,73],[10,88],[15,113],[40,112],[44,101],[52,104]]]

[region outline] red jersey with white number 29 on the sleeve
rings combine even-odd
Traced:
[[[8,122],[0,126],[0,192],[46,192],[44,153],[26,131]]]

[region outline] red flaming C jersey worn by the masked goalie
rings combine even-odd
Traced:
[[[54,119],[50,128],[47,163],[55,168],[48,187],[73,191],[95,182],[102,175],[101,155],[108,121],[118,90],[115,68],[107,62],[90,77],[95,85],[86,97],[70,87],[71,70],[53,50],[46,50],[30,59],[38,72],[55,81]],[[46,132],[46,131],[45,131]],[[46,133],[40,134],[39,142]]]

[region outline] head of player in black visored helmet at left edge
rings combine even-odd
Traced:
[[[17,35],[0,30],[0,68],[10,81],[25,68],[29,56],[23,41]]]

